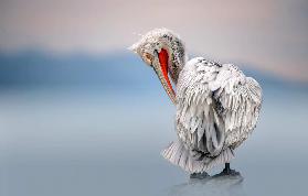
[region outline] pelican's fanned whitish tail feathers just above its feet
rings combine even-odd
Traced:
[[[234,159],[233,151],[227,148],[215,157],[204,157],[199,161],[191,155],[190,150],[180,141],[171,142],[169,146],[161,152],[161,155],[189,173],[208,172],[213,166],[227,163]]]

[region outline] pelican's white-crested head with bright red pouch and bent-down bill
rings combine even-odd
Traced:
[[[184,45],[179,36],[167,29],[155,29],[129,48],[153,68],[166,92],[176,104],[176,92],[169,76],[177,84],[179,72],[185,62]]]

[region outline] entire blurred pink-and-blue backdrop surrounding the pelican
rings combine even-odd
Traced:
[[[0,195],[307,195],[307,2],[0,0]],[[176,109],[126,48],[162,26],[261,83],[242,178],[190,181],[160,156]]]

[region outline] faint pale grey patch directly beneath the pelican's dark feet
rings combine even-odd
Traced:
[[[168,190],[170,196],[245,196],[241,174],[214,175],[202,179],[191,178],[188,183],[174,185]]]

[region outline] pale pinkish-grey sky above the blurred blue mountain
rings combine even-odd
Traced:
[[[307,17],[305,0],[1,0],[0,50],[119,53],[164,26],[189,54],[307,81]]]

